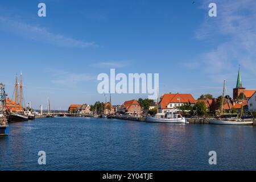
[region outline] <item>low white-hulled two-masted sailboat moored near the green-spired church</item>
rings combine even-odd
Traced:
[[[223,84],[223,92],[222,92],[222,102],[221,102],[221,111],[220,111],[220,117],[209,119],[210,124],[214,125],[253,125],[253,119],[245,119],[242,117],[243,115],[243,103],[241,107],[241,114],[240,117],[237,117],[237,115],[224,115],[224,93],[225,93],[225,80]],[[243,93],[243,101],[244,101],[245,93]]]

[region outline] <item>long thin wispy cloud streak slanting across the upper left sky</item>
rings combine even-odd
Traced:
[[[84,42],[82,40],[68,38],[64,35],[50,32],[44,27],[34,26],[4,16],[0,16],[0,28],[3,31],[14,32],[26,38],[53,44],[60,47],[97,47],[94,42]]]

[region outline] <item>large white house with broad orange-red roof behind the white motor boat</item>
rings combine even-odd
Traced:
[[[196,100],[191,94],[164,94],[160,98],[160,102],[158,104],[159,113],[166,113],[166,111],[171,111],[175,107],[183,106],[185,104],[194,106],[196,104]]]

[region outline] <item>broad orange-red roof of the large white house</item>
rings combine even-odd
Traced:
[[[193,98],[193,96],[189,93],[189,94],[184,94],[184,93],[168,93],[168,94],[164,94],[161,97],[161,101],[160,101],[160,105],[161,108],[167,108],[168,104],[170,103],[190,103],[190,104],[195,104],[196,100],[195,98]]]

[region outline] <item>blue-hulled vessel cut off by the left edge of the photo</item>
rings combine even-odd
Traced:
[[[9,134],[9,125],[6,117],[5,85],[0,83],[0,136]]]

